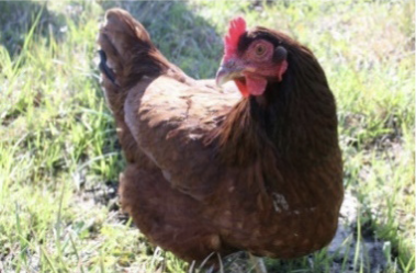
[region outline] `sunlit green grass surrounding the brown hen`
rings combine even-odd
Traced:
[[[358,200],[344,241],[353,254],[326,249],[267,260],[268,269],[416,272],[413,0],[0,0],[0,272],[188,269],[117,211],[124,162],[94,60],[99,22],[114,5],[195,78],[214,76],[236,14],[310,46],[338,102],[345,185]],[[384,264],[374,264],[368,238],[381,240]],[[226,266],[249,272],[241,254]]]

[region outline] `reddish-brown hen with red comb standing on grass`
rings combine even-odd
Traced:
[[[224,43],[220,88],[169,62],[126,11],[106,12],[100,69],[127,161],[122,207],[185,261],[319,250],[344,196],[325,73],[308,48],[241,18]]]

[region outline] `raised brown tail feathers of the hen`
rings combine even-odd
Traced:
[[[100,29],[100,69],[105,82],[130,88],[143,76],[155,76],[169,67],[156,49],[145,27],[126,11],[111,9]]]

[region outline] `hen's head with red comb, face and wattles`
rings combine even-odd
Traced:
[[[229,22],[216,83],[234,80],[244,96],[261,95],[270,81],[282,80],[288,52],[279,37],[263,27],[247,31],[243,18]]]

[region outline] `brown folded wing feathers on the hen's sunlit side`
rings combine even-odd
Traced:
[[[203,138],[239,100],[206,82],[187,84],[168,76],[144,80],[128,91],[125,121],[135,140],[178,190],[205,198],[218,180],[215,150]]]

